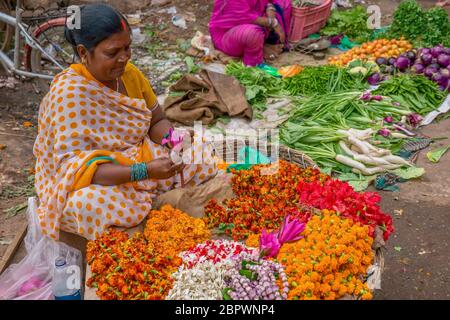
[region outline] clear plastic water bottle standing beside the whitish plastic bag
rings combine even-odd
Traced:
[[[72,273],[68,272],[68,265],[64,257],[55,260],[53,274],[52,292],[55,300],[81,300],[80,289],[71,288],[69,277]]]

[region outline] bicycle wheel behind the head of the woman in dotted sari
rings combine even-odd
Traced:
[[[57,18],[41,24],[33,32],[33,36],[39,41],[41,47],[52,56],[63,68],[67,68],[75,62],[72,46],[64,37],[66,18]],[[55,75],[61,72],[61,68],[55,65],[39,49],[27,46],[25,49],[25,61],[27,68],[36,73]]]

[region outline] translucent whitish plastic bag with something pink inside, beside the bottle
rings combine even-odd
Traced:
[[[28,232],[25,237],[27,255],[0,275],[1,300],[53,300],[53,266],[59,256],[66,257],[69,265],[79,267],[81,279],[81,252],[62,242],[42,236],[35,198],[28,199],[27,217]]]

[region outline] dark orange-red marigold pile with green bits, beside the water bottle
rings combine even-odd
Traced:
[[[162,300],[172,288],[171,274],[181,265],[177,255],[160,255],[148,247],[142,233],[129,238],[110,229],[87,245],[92,277],[102,300]]]

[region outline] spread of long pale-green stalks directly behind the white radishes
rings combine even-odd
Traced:
[[[280,130],[281,142],[310,156],[321,168],[336,172],[350,172],[351,168],[336,161],[343,154],[339,141],[340,130],[378,130],[383,118],[392,116],[399,121],[411,113],[405,106],[394,106],[394,101],[383,97],[382,101],[364,100],[361,91],[344,91],[332,95],[316,95],[298,103]],[[386,148],[392,149],[398,139],[380,138]]]

